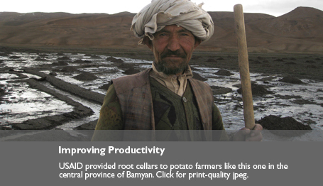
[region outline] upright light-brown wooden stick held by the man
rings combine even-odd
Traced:
[[[244,124],[246,128],[253,129],[255,126],[255,118],[253,116],[246,28],[244,26],[243,9],[241,4],[236,4],[234,6],[234,26],[238,40],[239,72],[242,88]]]

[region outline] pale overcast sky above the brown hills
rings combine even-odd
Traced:
[[[151,0],[14,0],[1,1],[1,11],[20,13],[29,12],[68,12],[68,13],[119,13],[128,11],[137,13]],[[206,11],[233,11],[235,4],[242,4],[248,13],[267,13],[281,16],[297,6],[309,6],[323,10],[323,0],[192,0],[196,4],[204,2]]]

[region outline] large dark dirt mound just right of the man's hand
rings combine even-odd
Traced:
[[[296,121],[292,117],[288,116],[285,118],[281,118],[280,116],[265,116],[263,119],[256,121],[257,124],[261,124],[263,128],[268,130],[312,130],[312,128],[308,125],[301,124]],[[280,136],[285,136],[286,134],[299,136],[301,133],[297,132],[284,132],[284,131],[276,131],[275,134]]]

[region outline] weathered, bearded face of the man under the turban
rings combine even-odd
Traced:
[[[181,26],[165,26],[154,34],[151,43],[146,42],[155,55],[156,67],[166,75],[180,75],[187,69],[193,50],[200,40]]]

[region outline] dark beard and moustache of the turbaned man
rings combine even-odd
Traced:
[[[168,56],[176,55],[180,57],[178,60],[165,59]],[[159,72],[163,72],[165,75],[177,75],[178,73],[185,72],[188,68],[187,55],[179,50],[175,52],[167,50],[160,54],[160,58],[156,61],[155,67]]]

